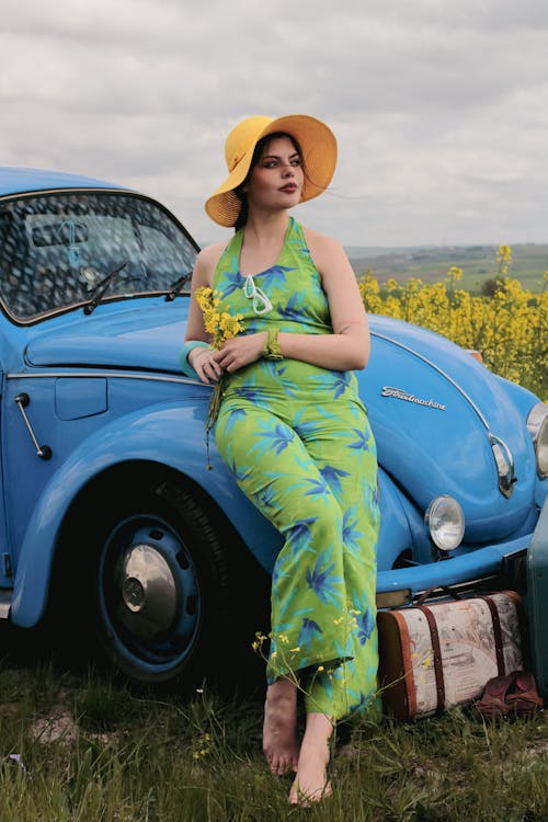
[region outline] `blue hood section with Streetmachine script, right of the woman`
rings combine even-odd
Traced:
[[[536,471],[505,380],[438,334],[384,317],[370,326],[372,356],[358,379],[379,464],[422,510],[439,494],[458,500],[468,543],[515,533],[530,512]],[[490,436],[514,460],[510,499],[499,490]]]

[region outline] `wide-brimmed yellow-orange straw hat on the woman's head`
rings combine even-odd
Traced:
[[[256,116],[242,119],[232,128],[225,144],[225,159],[230,172],[222,185],[206,201],[205,209],[220,226],[233,226],[241,201],[235,194],[250,170],[256,144],[269,134],[295,137],[302,152],[305,182],[300,202],[312,199],[330,184],[336,165],[336,139],[324,123],[307,114],[285,117]]]

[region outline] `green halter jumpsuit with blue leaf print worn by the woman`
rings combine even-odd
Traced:
[[[243,333],[332,333],[327,296],[293,218],[275,265],[240,273],[243,233],[214,277]],[[340,719],[376,690],[377,460],[353,372],[261,358],[230,376],[215,437],[242,491],[285,538],[272,578],[267,682],[295,675],[307,711]]]

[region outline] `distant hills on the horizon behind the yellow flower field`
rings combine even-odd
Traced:
[[[452,265],[463,269],[460,285],[470,292],[480,292],[482,284],[496,276],[498,246],[421,246],[409,248],[346,247],[356,276],[372,269],[377,279],[393,277],[406,282],[418,277],[425,283],[443,279]],[[538,292],[543,276],[548,271],[548,243],[512,246],[512,265],[509,275],[518,279],[524,288]]]

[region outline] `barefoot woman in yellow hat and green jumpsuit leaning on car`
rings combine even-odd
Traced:
[[[217,289],[220,310],[242,315],[244,330],[208,346],[192,299],[182,362],[204,383],[229,376],[218,449],[285,537],[263,749],[273,773],[296,770],[289,801],[307,803],[331,792],[335,720],[365,708],[376,688],[376,450],[352,373],[367,364],[369,332],[342,247],[288,215],[329,185],[331,130],[305,115],[250,117],[228,136],[226,159],[229,176],[205,207],[237,231],[199,253],[192,290]]]

